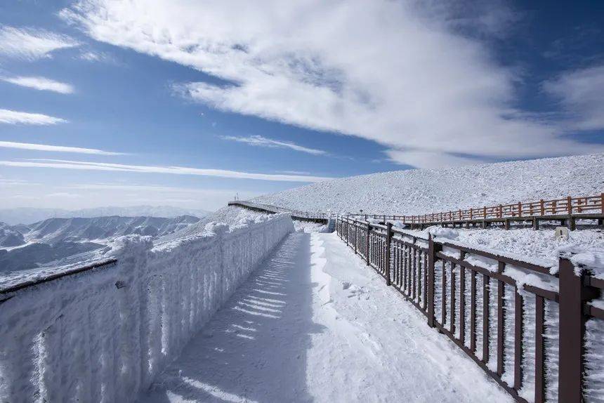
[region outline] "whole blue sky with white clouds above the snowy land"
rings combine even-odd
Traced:
[[[599,152],[603,29],[600,1],[3,2],[0,207]]]

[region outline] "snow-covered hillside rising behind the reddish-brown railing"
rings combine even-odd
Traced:
[[[603,191],[604,153],[600,153],[374,173],[313,183],[253,201],[303,211],[421,214]]]

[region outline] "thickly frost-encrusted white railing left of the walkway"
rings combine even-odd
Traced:
[[[276,215],[153,246],[0,303],[0,402],[129,402],[294,230]]]

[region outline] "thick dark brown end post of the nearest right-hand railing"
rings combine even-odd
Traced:
[[[585,273],[575,273],[575,266],[560,258],[560,341],[558,345],[558,402],[583,401],[584,336],[586,317],[584,301],[597,296],[584,286]]]

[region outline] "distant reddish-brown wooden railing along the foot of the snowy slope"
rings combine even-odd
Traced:
[[[604,216],[604,193],[596,196],[565,197],[563,199],[539,200],[538,202],[518,202],[513,204],[499,204],[498,206],[484,206],[473,209],[457,211],[441,211],[420,216],[398,216],[388,214],[348,214],[350,217],[383,218],[384,220],[398,220],[404,224],[438,224],[480,220],[502,220],[505,218],[547,218],[587,216],[593,214],[596,218]]]

